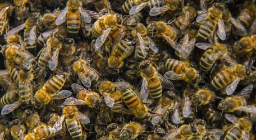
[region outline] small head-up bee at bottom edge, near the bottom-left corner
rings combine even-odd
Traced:
[[[22,124],[21,120],[15,119],[11,122],[11,136],[15,140],[24,139],[26,133],[26,128]]]

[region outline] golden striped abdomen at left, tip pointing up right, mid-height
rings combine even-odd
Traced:
[[[60,89],[62,89],[65,81],[66,76],[64,74],[55,75],[44,84],[43,90],[46,90],[49,94],[56,94]]]

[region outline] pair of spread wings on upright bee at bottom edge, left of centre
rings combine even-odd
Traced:
[[[90,119],[87,115],[85,115],[81,112],[77,112],[76,115],[77,115],[77,118],[79,118],[79,120],[82,124],[90,123]],[[62,130],[64,120],[65,120],[65,115],[61,115],[61,117],[57,120],[57,122],[54,123],[54,125],[52,127],[54,133],[57,133],[57,132]]]

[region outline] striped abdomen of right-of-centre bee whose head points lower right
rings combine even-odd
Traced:
[[[176,74],[184,73],[186,67],[185,64],[175,59],[167,59],[165,66],[167,70],[174,71]]]

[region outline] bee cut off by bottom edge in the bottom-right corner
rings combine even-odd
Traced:
[[[223,139],[249,139],[249,132],[252,129],[252,123],[247,118],[236,118],[234,115],[225,114],[225,118],[233,125],[227,129]]]

